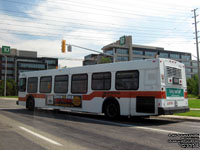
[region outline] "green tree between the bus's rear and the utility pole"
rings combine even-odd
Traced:
[[[195,74],[192,78],[187,79],[188,94],[198,95],[198,75]]]

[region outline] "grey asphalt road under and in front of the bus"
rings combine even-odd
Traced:
[[[200,122],[151,117],[106,120],[101,115],[30,112],[0,99],[0,150],[177,150],[169,134],[199,133]],[[193,148],[197,149],[197,148]]]

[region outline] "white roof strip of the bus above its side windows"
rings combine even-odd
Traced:
[[[80,73],[80,72],[104,72],[117,70],[120,66],[122,69],[120,70],[127,70],[130,67],[135,69],[139,68],[151,68],[155,67],[158,62],[162,61],[174,61],[171,59],[165,58],[154,58],[154,59],[144,59],[144,60],[132,60],[132,61],[125,61],[125,62],[115,62],[115,63],[106,63],[106,64],[95,64],[95,65],[87,65],[87,66],[79,66],[79,67],[70,67],[70,68],[62,68],[62,69],[51,69],[51,70],[41,70],[41,71],[30,71],[30,72],[23,72],[20,73],[20,76],[36,76],[36,75],[51,75],[51,74],[63,74],[65,73]],[[152,62],[152,63],[150,63]],[[157,63],[156,63],[157,62]],[[181,64],[180,62],[174,61],[177,64]]]

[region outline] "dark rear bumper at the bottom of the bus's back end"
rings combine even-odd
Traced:
[[[158,115],[172,115],[174,113],[184,113],[190,111],[188,106],[184,107],[170,107],[170,108],[158,108]]]

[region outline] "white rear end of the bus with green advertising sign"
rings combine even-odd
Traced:
[[[160,59],[161,90],[165,99],[158,102],[158,115],[171,115],[189,111],[184,64]]]

